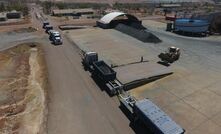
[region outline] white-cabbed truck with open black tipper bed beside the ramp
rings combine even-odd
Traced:
[[[104,61],[98,60],[96,52],[84,53],[82,64],[86,70],[89,70],[94,78],[107,87],[107,92],[113,96],[122,90],[123,85],[116,78],[116,72]]]

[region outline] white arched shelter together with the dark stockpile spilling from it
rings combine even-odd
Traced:
[[[159,43],[161,40],[150,33],[137,17],[123,13],[112,12],[97,21],[97,26],[103,29],[115,28],[116,30],[130,35],[142,42]]]

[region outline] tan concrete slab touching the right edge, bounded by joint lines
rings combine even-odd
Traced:
[[[221,96],[207,89],[185,97],[184,101],[209,118],[221,111]]]

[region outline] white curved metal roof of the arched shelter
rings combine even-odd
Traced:
[[[113,19],[119,17],[119,16],[127,16],[130,19],[133,20],[138,20],[135,16],[127,14],[127,13],[123,13],[123,12],[112,12],[109,14],[106,14],[105,16],[103,16],[99,21],[104,23],[104,24],[108,24],[110,23]]]

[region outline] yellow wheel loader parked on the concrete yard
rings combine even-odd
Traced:
[[[158,56],[163,62],[173,63],[180,58],[180,49],[177,47],[169,47],[168,51],[161,53]]]

